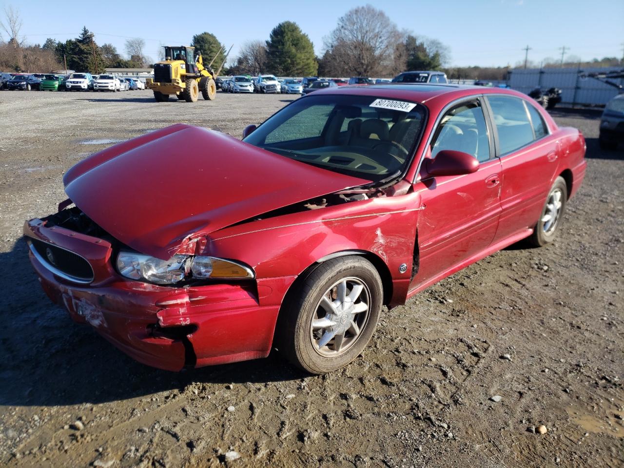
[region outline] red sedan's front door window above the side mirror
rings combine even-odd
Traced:
[[[444,114],[431,142],[431,157],[442,150],[461,151],[479,161],[490,158],[490,140],[478,99],[462,102]]]

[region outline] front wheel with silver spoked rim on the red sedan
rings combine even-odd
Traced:
[[[357,358],[373,336],[383,305],[375,267],[360,256],[334,258],[295,287],[276,336],[286,358],[311,374],[336,371]]]

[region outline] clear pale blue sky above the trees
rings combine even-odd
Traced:
[[[228,47],[234,44],[235,57],[245,41],[267,39],[286,20],[299,24],[321,54],[323,37],[338,18],[366,3],[386,12],[399,29],[447,44],[454,66],[514,66],[524,60],[527,45],[532,47],[529,59],[537,63],[560,57],[562,46],[583,60],[622,57],[624,47],[623,0],[233,0],[191,2],[194,10],[188,2],[178,2],[177,11],[170,1],[129,0],[123,11],[119,2],[110,3],[114,8],[105,7],[107,3],[2,0],[0,9],[10,4],[19,9],[27,42],[42,43],[46,37],[64,41],[87,26],[98,44],[110,42],[122,53],[127,37],[142,37],[145,53],[154,59],[160,44],[188,44],[193,34],[203,31]]]

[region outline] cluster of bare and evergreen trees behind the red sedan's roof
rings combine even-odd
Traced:
[[[440,41],[399,31],[383,11],[367,5],[338,19],[321,57],[315,56],[314,44],[298,24],[285,21],[267,40],[243,44],[227,72],[393,77],[406,70],[439,70],[449,58],[449,48]]]

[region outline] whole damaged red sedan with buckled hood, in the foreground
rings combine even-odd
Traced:
[[[276,347],[326,373],[363,351],[383,305],[552,242],[584,156],[578,130],[511,90],[336,87],[242,141],[173,125],[100,151],[24,233],[52,301],[142,363]]]

